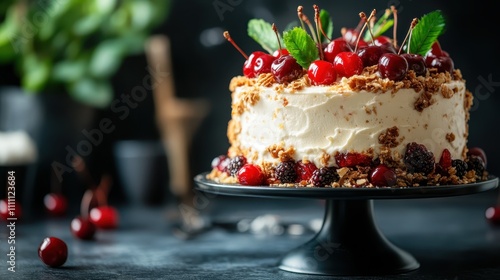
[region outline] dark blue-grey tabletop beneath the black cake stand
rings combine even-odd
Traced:
[[[375,200],[381,232],[419,262],[416,271],[355,279],[500,279],[500,226],[485,220],[497,189],[426,199]],[[0,279],[344,279],[280,270],[280,258],[311,239],[321,225],[324,201],[201,196],[195,207],[119,205],[120,225],[82,241],[66,217],[16,225],[16,272],[8,271],[7,227],[0,230]],[[209,219],[212,229],[183,239],[180,217]],[[353,217],[355,219],[355,217]],[[37,255],[46,236],[69,248],[59,268]]]

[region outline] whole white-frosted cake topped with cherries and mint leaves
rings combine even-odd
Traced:
[[[311,26],[302,9],[299,19]],[[277,46],[261,42],[269,53],[246,56],[225,33],[246,61],[243,75],[229,84],[229,148],[214,158],[208,179],[372,188],[487,178],[484,151],[467,143],[473,96],[437,40],[444,29],[440,11],[414,19],[400,46],[377,33],[395,9],[378,21],[375,10],[370,17],[360,13],[361,24],[343,28],[336,39],[325,32],[328,13],[314,9],[316,32],[295,27],[282,38],[274,24],[251,20],[249,34],[258,42],[265,38],[252,30],[274,32]],[[429,33],[424,28],[436,36],[422,37]],[[361,39],[363,32],[370,40]]]

